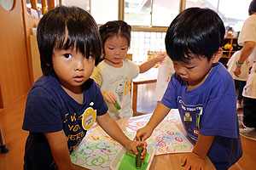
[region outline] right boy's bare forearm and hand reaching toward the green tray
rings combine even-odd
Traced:
[[[140,139],[141,136],[143,137],[143,141],[148,139],[153,133],[154,128],[157,127],[157,125],[159,125],[160,122],[162,122],[162,120],[166,117],[169,111],[171,111],[170,108],[160,103],[156,107],[147,125],[137,130],[136,139]]]

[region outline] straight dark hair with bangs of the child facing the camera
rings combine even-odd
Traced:
[[[95,20],[78,7],[60,6],[44,14],[38,23],[37,38],[41,68],[46,76],[55,74],[52,65],[54,48],[76,48],[85,58],[92,54],[96,65],[102,54],[102,41]]]

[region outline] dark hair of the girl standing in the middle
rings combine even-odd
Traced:
[[[102,47],[104,52],[104,44],[110,37],[120,36],[124,37],[128,41],[128,47],[131,43],[131,26],[123,20],[108,21],[103,26],[100,26],[100,34],[102,37]]]

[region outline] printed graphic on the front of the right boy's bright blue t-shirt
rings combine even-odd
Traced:
[[[200,117],[202,113],[202,105],[187,105],[182,97],[177,98],[178,110],[183,117],[183,125],[189,133],[189,137],[196,140],[200,130]]]

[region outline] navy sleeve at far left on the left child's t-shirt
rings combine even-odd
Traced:
[[[44,88],[32,88],[28,94],[22,128],[37,133],[52,133],[63,129],[61,112],[52,95]]]

